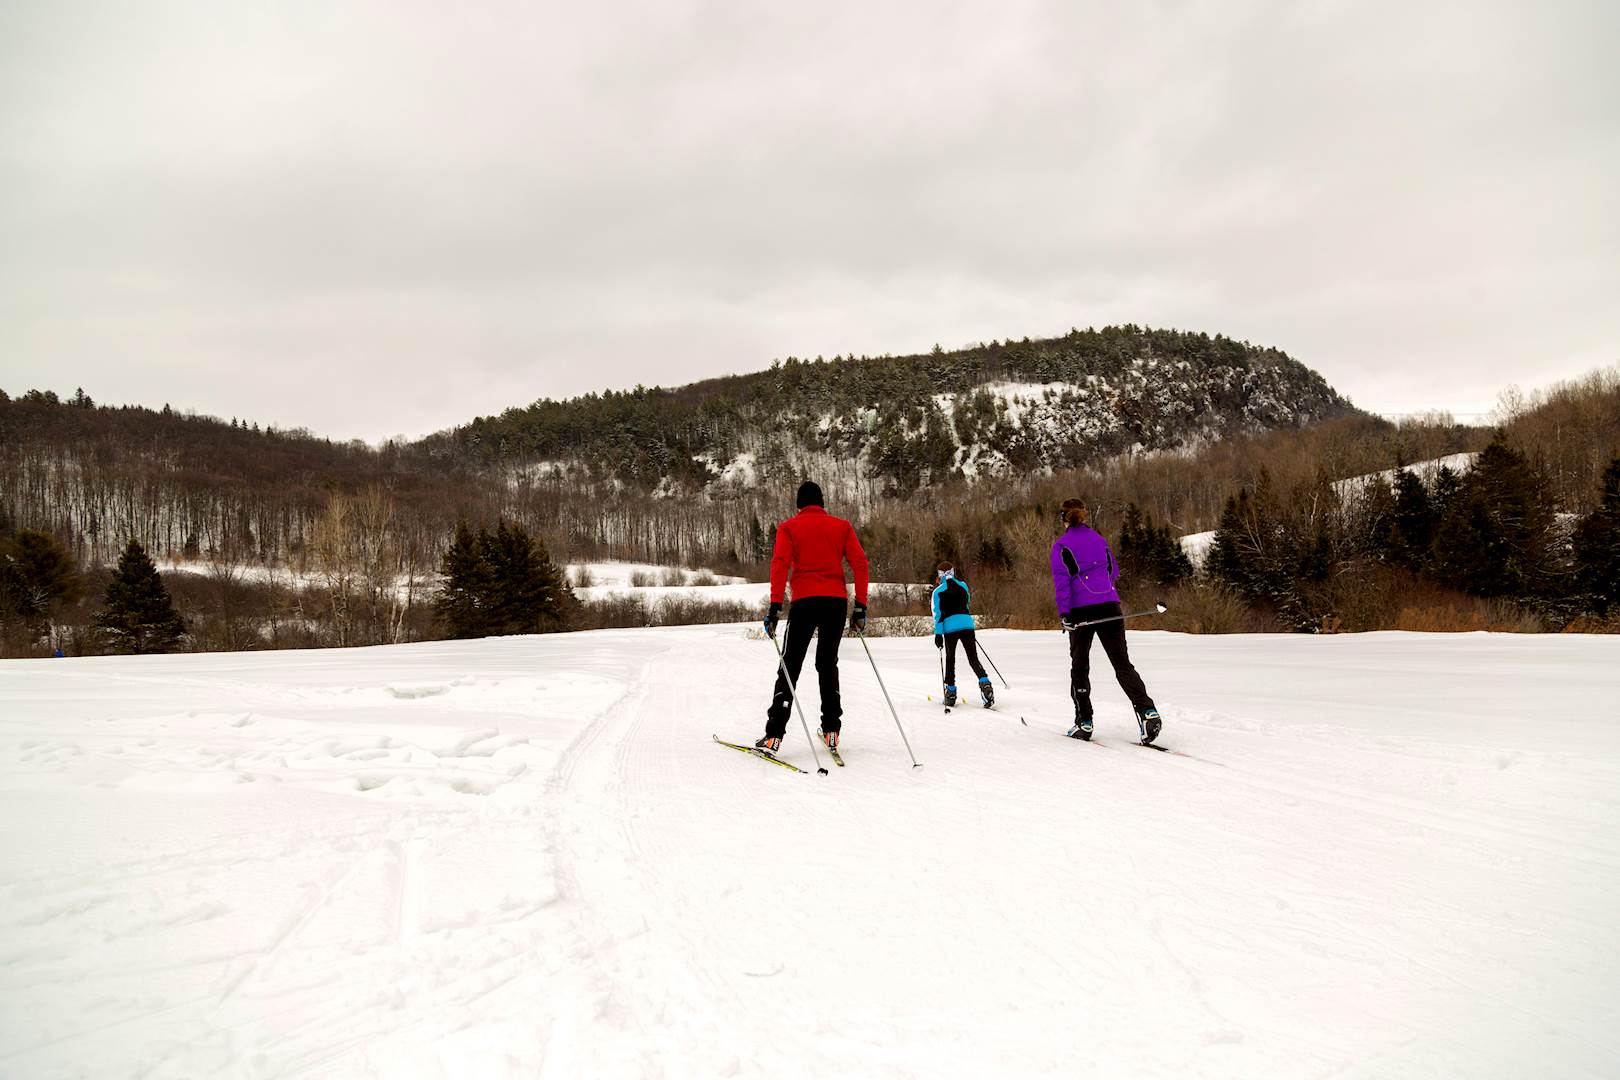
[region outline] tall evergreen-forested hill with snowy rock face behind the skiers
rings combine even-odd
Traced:
[[[1009,403],[996,384],[1027,387],[1030,400]],[[1074,468],[1351,411],[1275,348],[1123,325],[901,358],[789,356],[679,389],[543,398],[423,447],[454,461],[590,461],[643,487],[701,487],[740,453],[797,450],[859,458],[862,476],[896,495],[964,473]]]

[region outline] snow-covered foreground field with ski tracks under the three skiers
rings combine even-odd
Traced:
[[[1620,640],[983,641],[828,777],[740,627],[8,661],[0,1075],[1615,1075]]]

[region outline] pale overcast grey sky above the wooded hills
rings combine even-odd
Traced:
[[[1620,5],[6,0],[0,389],[330,437],[1136,322],[1620,363]]]

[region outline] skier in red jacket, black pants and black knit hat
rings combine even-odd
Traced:
[[[771,552],[771,607],[765,615],[765,633],[776,636],[776,623],[782,614],[782,597],[792,588],[794,606],[787,610],[787,633],[782,644],[782,662],[787,677],[799,685],[799,670],[810,649],[810,635],[816,635],[815,674],[821,683],[821,742],[838,748],[844,709],[838,698],[838,641],[844,633],[844,614],[849,594],[844,591],[844,563],[855,573],[855,607],[849,612],[849,628],[867,628],[867,552],[855,539],[855,528],[825,510],[821,487],[813,481],[799,486],[794,500],[799,513],[776,526],[776,549]],[[765,738],[753,743],[776,753],[787,732],[787,716],[792,712],[792,691],[781,667],[776,670],[776,690],[771,708],[765,712]]]

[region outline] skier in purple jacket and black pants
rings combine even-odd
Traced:
[[[1085,502],[1066,499],[1063,523],[1068,528],[1051,544],[1051,586],[1058,596],[1063,628],[1069,631],[1069,696],[1074,698],[1074,727],[1068,733],[1071,738],[1092,737],[1090,667],[1092,636],[1097,636],[1103,643],[1108,662],[1113,664],[1115,678],[1131,698],[1142,742],[1150,743],[1158,737],[1160,716],[1124,648],[1124,620],[1118,619],[1124,612],[1119,607],[1119,593],[1115,591],[1119,563],[1115,562],[1108,541],[1089,526],[1085,518]],[[1079,625],[1110,615],[1116,619],[1095,627]]]

